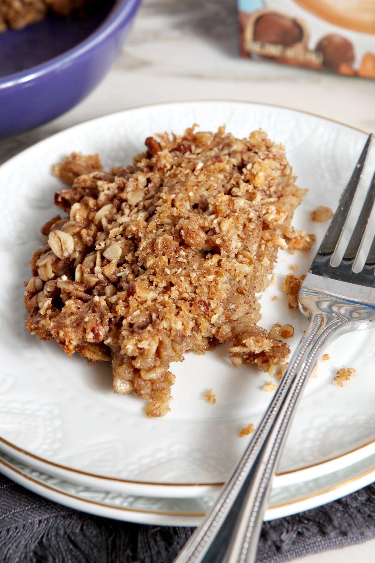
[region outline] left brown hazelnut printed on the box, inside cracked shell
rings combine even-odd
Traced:
[[[296,20],[278,14],[263,14],[254,24],[253,39],[260,43],[290,47],[300,42],[302,36],[302,29]]]

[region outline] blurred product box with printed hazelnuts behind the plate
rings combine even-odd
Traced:
[[[243,57],[375,78],[375,0],[238,0]]]

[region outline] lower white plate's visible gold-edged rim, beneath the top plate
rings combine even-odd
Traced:
[[[273,520],[334,501],[375,479],[375,455],[353,466],[301,484],[273,486],[265,520]],[[84,486],[58,479],[0,454],[0,471],[9,479],[51,501],[117,520],[165,526],[197,526],[218,491],[196,498],[163,498],[118,493],[105,486]]]

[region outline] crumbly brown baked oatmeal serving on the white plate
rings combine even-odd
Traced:
[[[64,216],[42,229],[25,304],[32,334],[69,356],[111,360],[115,392],[160,417],[170,363],[188,351],[232,343],[234,365],[270,374],[287,359],[281,325],[257,325],[258,294],[278,250],[312,239],[291,226],[305,190],[263,131],[238,139],[192,127],[148,137],[146,148],[110,172],[79,153],[55,166],[71,186],[55,195]]]

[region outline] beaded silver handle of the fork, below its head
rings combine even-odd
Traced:
[[[215,506],[175,563],[255,561],[272,477],[301,391],[330,341],[346,332],[342,316],[315,312],[260,425]]]

